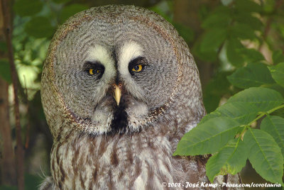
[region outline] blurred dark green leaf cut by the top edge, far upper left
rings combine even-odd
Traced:
[[[13,5],[13,10],[19,16],[32,16],[43,9],[43,3],[40,0],[18,0]]]

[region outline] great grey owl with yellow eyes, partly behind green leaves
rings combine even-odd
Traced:
[[[187,44],[156,13],[102,6],[72,16],[50,44],[41,97],[53,148],[40,189],[209,182],[206,158],[172,156],[205,110]]]

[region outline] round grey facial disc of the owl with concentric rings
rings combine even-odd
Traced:
[[[96,135],[146,128],[177,86],[173,43],[154,24],[126,21],[123,14],[84,19],[62,31],[50,53],[65,115]]]

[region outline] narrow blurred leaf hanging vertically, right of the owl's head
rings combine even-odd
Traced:
[[[231,38],[226,43],[226,57],[236,67],[244,65],[244,57],[238,52],[238,49],[241,48],[244,48],[244,46],[236,38]]]

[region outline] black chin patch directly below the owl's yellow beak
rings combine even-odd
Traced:
[[[125,133],[128,125],[125,101],[121,101],[119,106],[114,107],[114,119],[111,121],[110,133]]]

